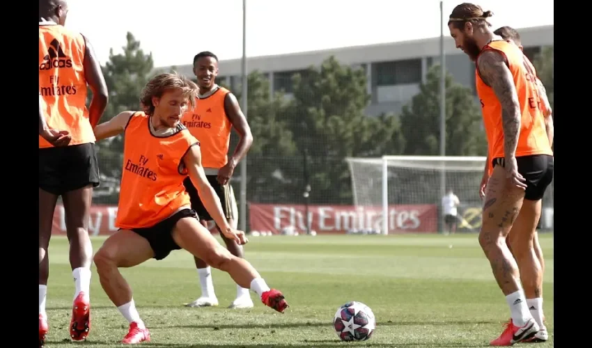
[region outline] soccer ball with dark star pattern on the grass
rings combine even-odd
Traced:
[[[369,340],[376,327],[372,310],[361,302],[348,302],[339,307],[333,327],[342,341]]]

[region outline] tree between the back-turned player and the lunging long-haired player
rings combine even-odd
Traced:
[[[145,54],[140,42],[128,32],[127,44],[122,54],[109,52],[109,61],[102,71],[109,88],[109,104],[101,122],[105,122],[126,110],[139,110],[139,97],[142,88],[150,79],[154,62],[152,54]],[[97,203],[117,203],[121,166],[123,161],[123,136],[100,141],[98,144],[102,183],[96,190]]]

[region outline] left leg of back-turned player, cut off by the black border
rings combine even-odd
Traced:
[[[45,345],[45,336],[49,331],[45,298],[47,296],[47,278],[49,278],[49,239],[52,237],[54,210],[58,196],[39,189],[39,346]]]

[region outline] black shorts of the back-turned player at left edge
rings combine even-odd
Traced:
[[[61,196],[99,183],[95,144],[39,149],[39,188],[43,191]]]

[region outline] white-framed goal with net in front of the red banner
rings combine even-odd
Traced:
[[[384,156],[346,160],[354,205],[363,211],[361,216],[366,216],[365,228],[380,230],[382,234],[442,231],[442,197],[448,189],[460,200],[457,232],[478,232],[481,228],[483,202],[478,191],[485,157]],[[552,230],[552,210],[551,186],[543,199],[540,228]]]

